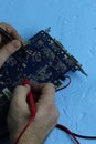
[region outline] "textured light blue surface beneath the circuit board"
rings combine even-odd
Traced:
[[[58,123],[73,132],[96,135],[96,0],[0,0],[0,22],[15,27],[24,40],[51,25],[51,34],[83,64],[88,78],[70,74],[71,85],[56,93]],[[96,144],[82,140],[81,144]],[[45,144],[74,144],[54,130]]]

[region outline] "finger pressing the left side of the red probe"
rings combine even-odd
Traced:
[[[14,89],[11,106],[17,105],[22,114],[30,114],[29,104],[26,103],[26,96],[30,92],[29,85],[19,85]]]

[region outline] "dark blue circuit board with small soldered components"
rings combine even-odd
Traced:
[[[86,75],[78,61],[47,32],[40,31],[31,38],[0,69],[0,127],[3,126],[13,89],[23,80],[52,82],[57,89],[65,80],[65,73],[76,70]]]

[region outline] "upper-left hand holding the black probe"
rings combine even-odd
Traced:
[[[18,34],[17,30],[13,27],[4,22],[0,23],[0,27],[14,38],[13,41],[8,42],[7,39],[0,34],[0,68],[1,68],[3,63],[7,61],[7,59],[17,50],[19,50],[19,48],[21,47],[21,42],[23,40]]]

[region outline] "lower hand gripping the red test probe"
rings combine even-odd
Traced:
[[[19,134],[31,117],[26,95],[32,90],[35,102],[36,115],[32,124],[22,135],[19,144],[42,144],[49,133],[56,125],[58,111],[55,106],[55,89],[51,83],[25,86],[17,86],[8,114],[8,127],[11,144],[14,144]]]

